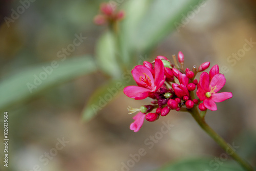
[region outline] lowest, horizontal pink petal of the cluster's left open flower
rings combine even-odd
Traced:
[[[128,86],[123,89],[123,93],[130,97],[134,98],[135,100],[142,100],[148,97],[148,92],[150,92],[150,89],[146,89],[143,87],[138,86]]]

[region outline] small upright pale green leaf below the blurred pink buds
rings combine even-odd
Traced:
[[[120,61],[117,60],[116,37],[112,32],[104,33],[96,47],[97,63],[102,71],[114,78],[121,76]]]

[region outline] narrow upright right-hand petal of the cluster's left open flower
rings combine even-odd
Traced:
[[[161,59],[155,60],[155,86],[158,90],[164,83],[164,66]]]

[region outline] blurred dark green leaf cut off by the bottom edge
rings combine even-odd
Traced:
[[[156,171],[243,171],[236,163],[229,161],[217,162],[212,159],[186,159],[165,166]]]

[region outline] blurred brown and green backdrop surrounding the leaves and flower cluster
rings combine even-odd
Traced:
[[[0,77],[5,78],[20,68],[52,61],[56,52],[66,47],[75,33],[87,40],[72,56],[94,54],[97,38],[105,31],[95,26],[92,18],[101,1],[36,1],[8,28],[0,26]],[[10,15],[17,2],[1,2],[1,15]],[[150,60],[156,55],[171,57],[182,51],[185,67],[210,61],[211,66],[226,66],[222,73],[226,85],[222,91],[233,98],[218,103],[218,111],[208,111],[206,121],[227,142],[238,145],[238,153],[256,166],[256,3],[255,1],[208,1],[196,16],[170,33],[152,54],[141,54]],[[0,16],[1,16],[0,15]],[[79,17],[77,17],[79,16]],[[246,40],[251,49],[236,61],[232,53],[243,49]],[[233,66],[233,64],[236,62]],[[188,157],[214,159],[223,150],[208,137],[188,113],[171,112],[156,122],[145,121],[141,130],[129,129],[133,115],[127,106],[139,108],[150,100],[136,101],[121,94],[88,123],[81,122],[81,111],[92,92],[105,81],[97,72],[83,76],[34,98],[28,104],[9,112],[10,169],[31,170],[38,164],[42,170],[121,170],[121,162],[144,148],[146,155],[131,170],[152,170]],[[17,95],[18,96],[18,95]],[[4,97],[1,97],[4,98]],[[163,123],[173,124],[152,149],[144,141],[160,131]],[[2,131],[0,133],[2,137]],[[44,165],[39,158],[49,153],[65,137],[69,143]],[[2,144],[1,144],[2,145]],[[2,149],[2,146],[1,146]],[[2,152],[0,153],[2,154]],[[0,167],[1,168],[1,167]]]

